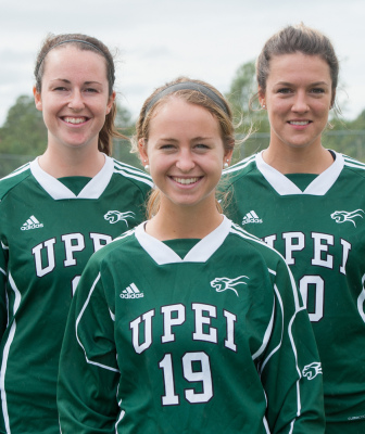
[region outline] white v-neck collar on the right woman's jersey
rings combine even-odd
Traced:
[[[343,156],[335,152],[335,162],[325,171],[319,174],[304,191],[301,191],[285,175],[280,174],[280,171],[264,162],[262,157],[263,152],[264,151],[256,154],[255,157],[257,169],[262,173],[263,177],[273,189],[282,196],[288,194],[312,194],[315,196],[322,196],[326,194],[340,176],[344,165]]]

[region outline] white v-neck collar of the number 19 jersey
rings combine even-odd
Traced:
[[[162,241],[146,233],[144,225],[146,222],[139,225],[135,231],[139,244],[156,264],[166,265],[178,263],[205,263],[227,238],[231,221],[223,216],[222,224],[214,229],[213,232],[200,240],[184,258],[180,258]]]

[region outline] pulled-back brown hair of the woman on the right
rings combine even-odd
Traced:
[[[333,46],[327,36],[303,23],[298,26],[287,26],[266,41],[256,61],[256,79],[260,88],[266,90],[270,60],[277,55],[295,52],[318,55],[327,62],[332,81],[331,104],[333,104],[339,76],[339,61]]]

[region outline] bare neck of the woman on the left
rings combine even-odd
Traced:
[[[98,150],[72,149],[70,152],[47,148],[38,159],[40,167],[54,178],[70,176],[95,177],[105,163]]]

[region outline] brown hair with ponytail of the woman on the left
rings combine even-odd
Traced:
[[[91,36],[83,35],[83,34],[63,34],[63,35],[49,35],[36,60],[36,66],[34,69],[35,78],[36,78],[36,90],[38,93],[41,92],[41,80],[45,74],[46,60],[47,54],[51,50],[58,50],[66,44],[73,44],[78,50],[92,51],[105,60],[106,66],[106,78],[109,84],[109,95],[111,97],[114,91],[114,81],[115,81],[115,66],[114,59],[109,51],[108,47],[102,43],[99,39],[93,38]],[[112,145],[113,138],[123,138],[126,139],[121,132],[118,132],[114,120],[116,115],[116,103],[113,102],[110,113],[105,116],[105,122],[102,129],[99,132],[98,139],[98,149],[100,152],[104,152],[106,155],[112,154]]]

